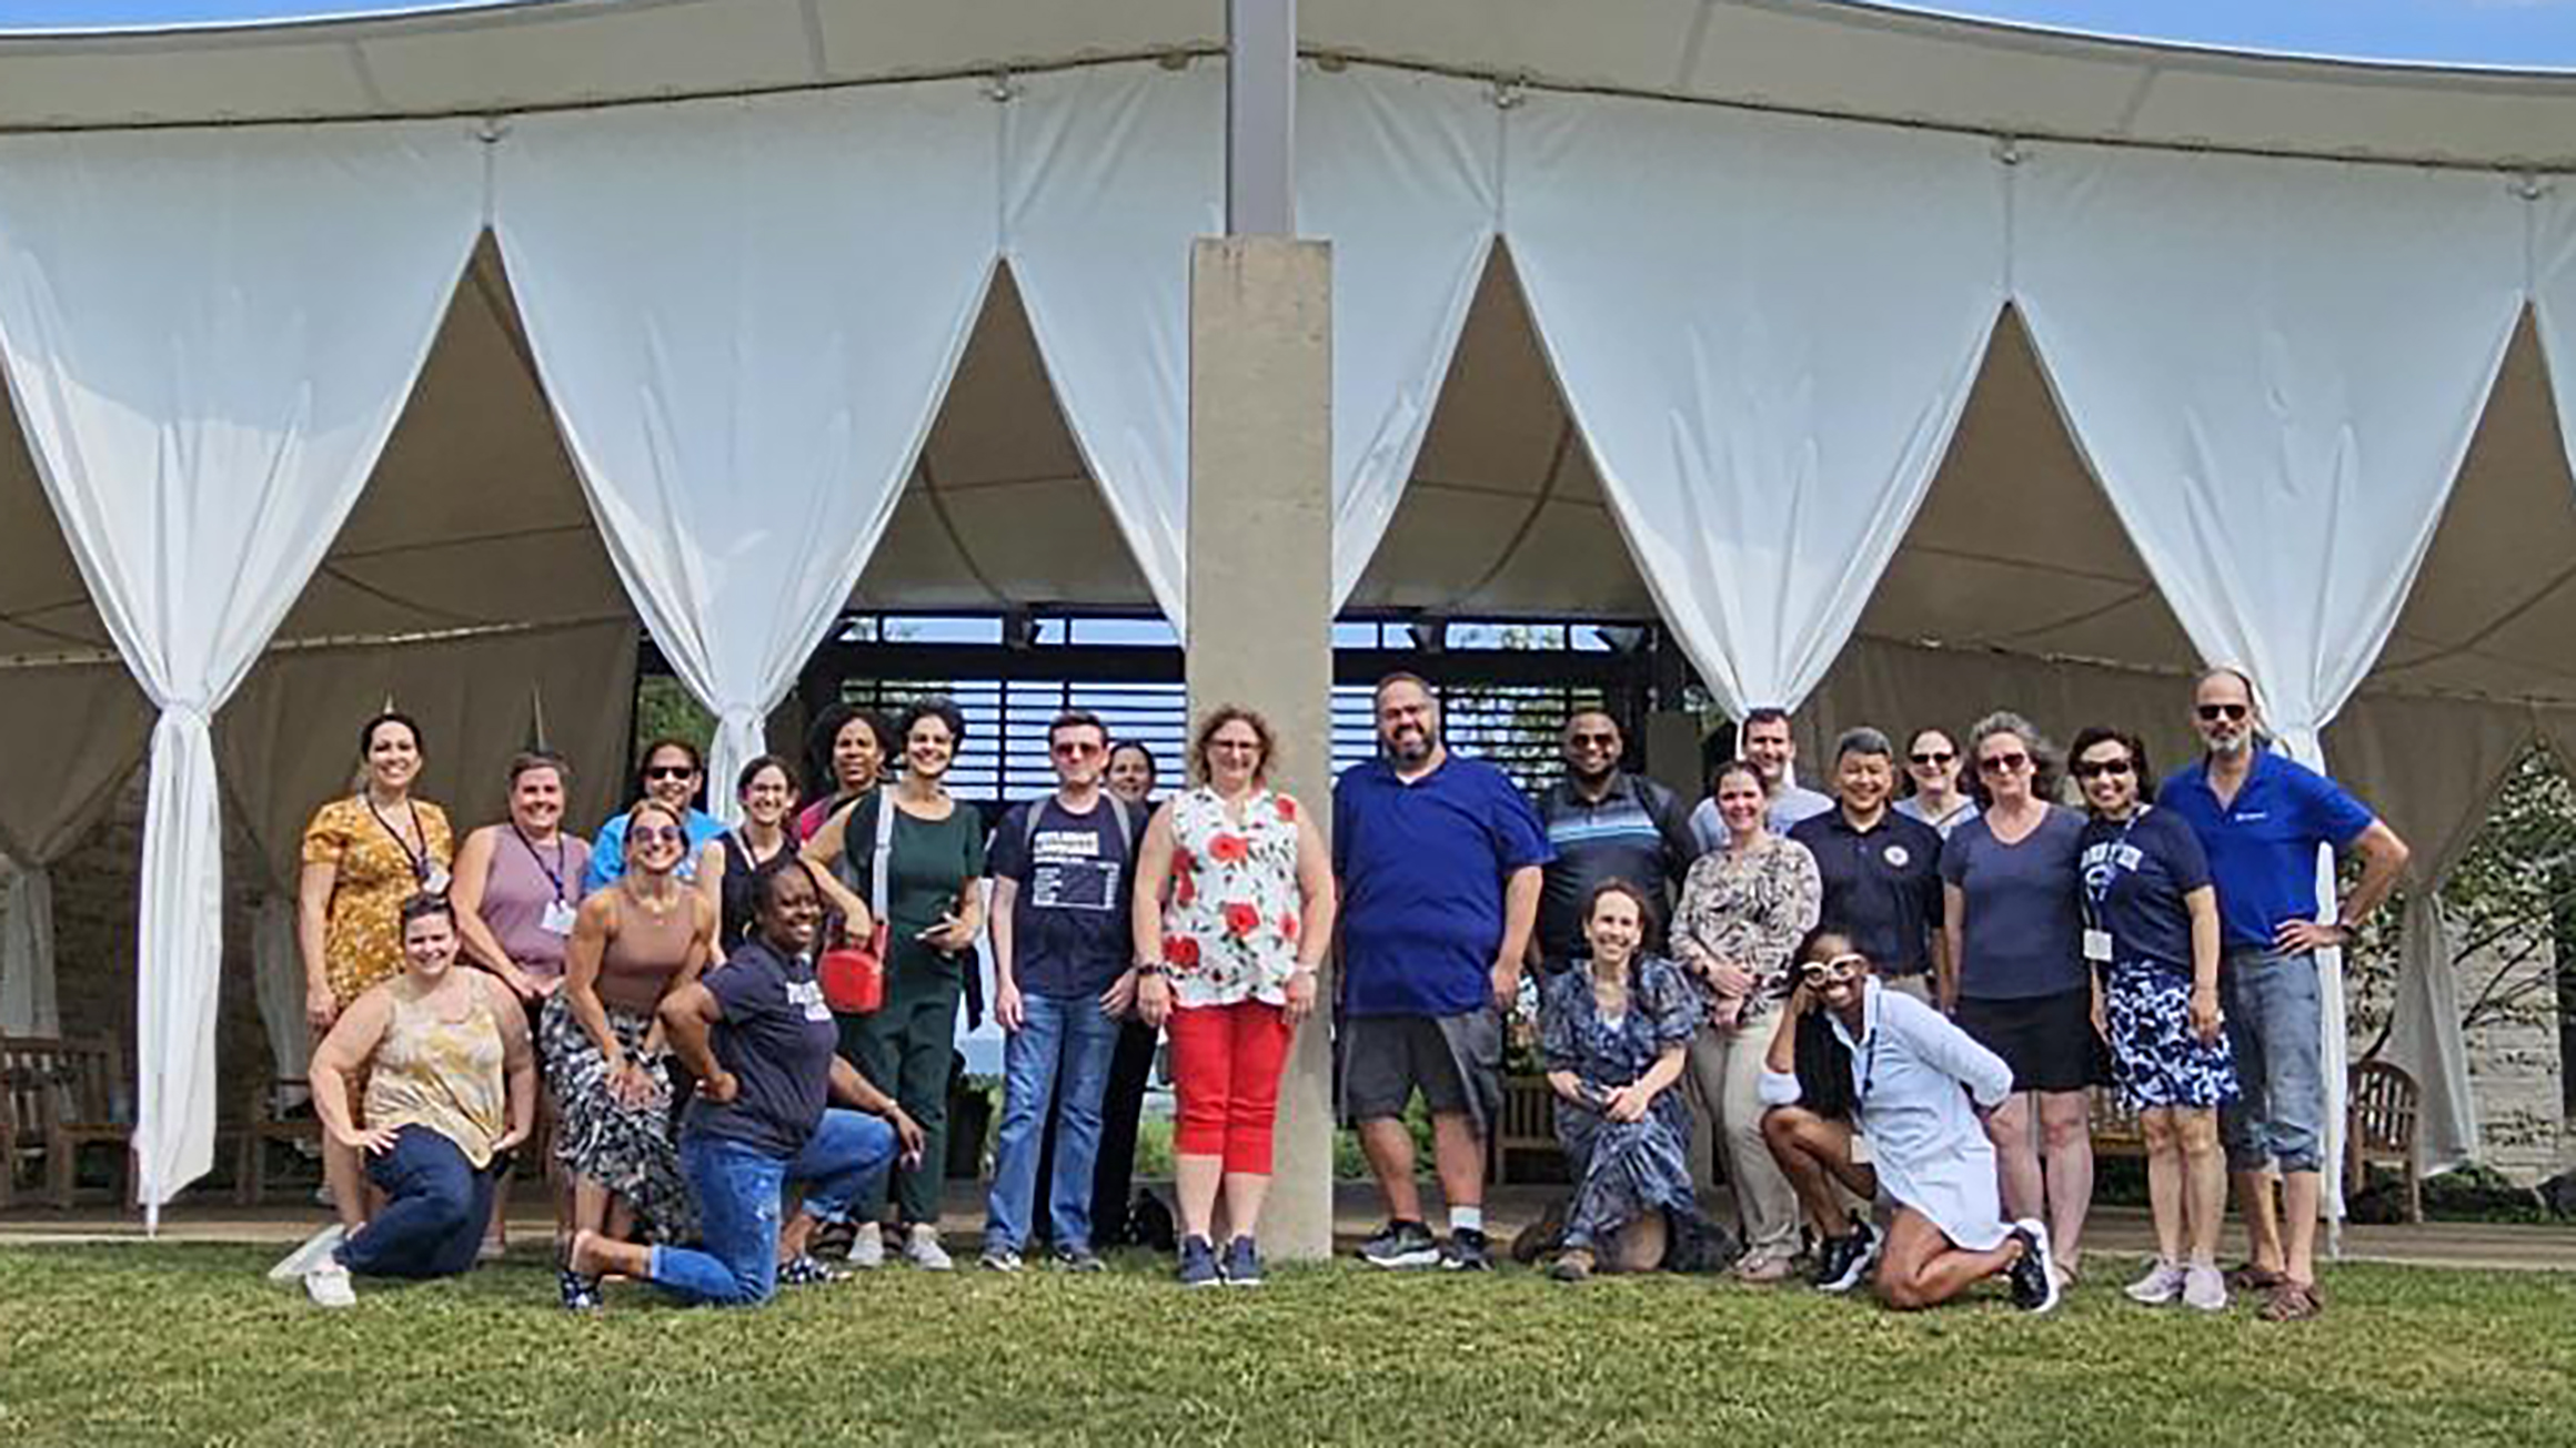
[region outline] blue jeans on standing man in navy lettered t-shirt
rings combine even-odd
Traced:
[[[984,1242],[1020,1250],[1038,1193],[1038,1139],[1056,1118],[1056,1175],[1046,1219],[1059,1250],[1092,1244],[1092,1167],[1100,1159],[1100,1095],[1118,1051],[1118,1023],[1097,995],[1020,997],[1028,1020],[1002,1046],[1002,1139],[992,1152]],[[1059,1103],[1061,1098],[1061,1103]]]

